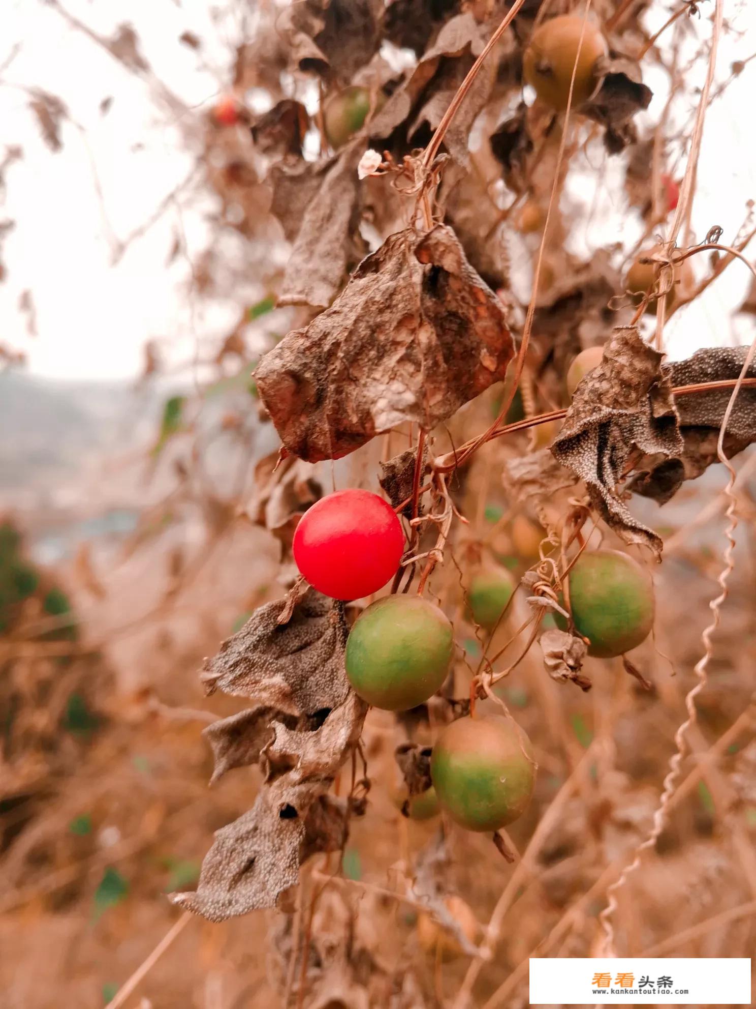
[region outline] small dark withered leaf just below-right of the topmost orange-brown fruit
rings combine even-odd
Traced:
[[[612,53],[602,68],[604,78],[598,93],[581,112],[606,126],[604,142],[610,154],[618,154],[637,140],[632,117],[647,109],[653,92],[642,83],[638,64]]]

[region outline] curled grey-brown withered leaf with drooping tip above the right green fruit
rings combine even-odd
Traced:
[[[580,382],[551,452],[586,482],[599,514],[625,543],[659,556],[659,537],[632,517],[617,492],[633,451],[678,456],[682,439],[662,355],[634,328],[616,329],[604,359]]]

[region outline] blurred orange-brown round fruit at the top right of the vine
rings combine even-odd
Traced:
[[[533,32],[522,57],[522,76],[542,102],[561,111],[577,62],[572,107],[579,108],[599,87],[597,61],[606,54],[606,40],[593,21],[586,21],[584,29],[582,16],[552,17]]]

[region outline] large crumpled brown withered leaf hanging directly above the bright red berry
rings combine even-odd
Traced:
[[[404,421],[430,430],[501,380],[512,353],[501,303],[436,225],[387,238],[255,378],[286,449],[316,462]]]

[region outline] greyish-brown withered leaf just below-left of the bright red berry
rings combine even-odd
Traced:
[[[347,627],[341,608],[311,589],[279,625],[285,599],[256,609],[227,639],[201,676],[206,693],[253,697],[289,714],[314,714],[343,703],[349,691],[344,671]]]

